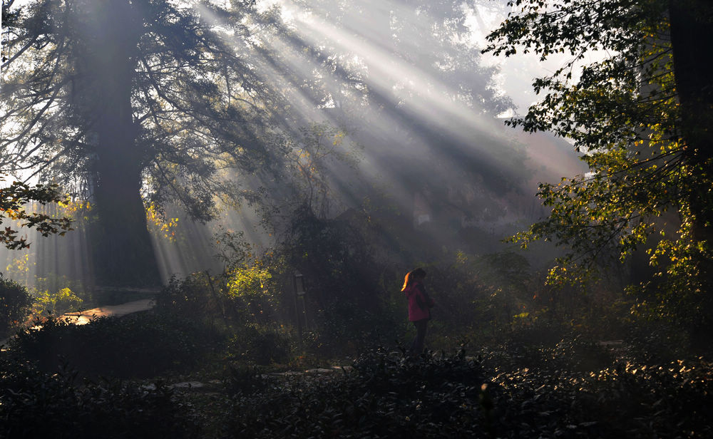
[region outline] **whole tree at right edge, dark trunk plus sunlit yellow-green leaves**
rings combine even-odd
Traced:
[[[570,249],[551,282],[581,281],[607,257],[645,249],[654,267],[643,296],[660,315],[694,326],[713,311],[713,7],[704,0],[510,1],[486,51],[571,61],[538,78],[546,93],[528,131],[573,140],[586,175],[540,185],[551,207],[515,240]],[[576,63],[599,50],[602,61]]]

